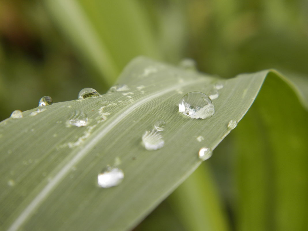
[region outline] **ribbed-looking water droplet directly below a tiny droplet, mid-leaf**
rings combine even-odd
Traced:
[[[157,150],[162,148],[165,144],[163,136],[157,130],[150,130],[144,132],[142,136],[142,144],[147,150]]]

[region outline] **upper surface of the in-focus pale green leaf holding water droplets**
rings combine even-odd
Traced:
[[[200,148],[213,150],[229,134],[229,121],[245,115],[268,72],[222,80],[137,58],[119,79],[129,91],[54,103],[37,115],[35,108],[22,119],[4,120],[1,229],[131,229],[201,164]],[[191,119],[178,111],[182,95],[209,93],[216,83],[223,88],[213,100],[212,118]],[[75,110],[87,114],[87,126],[66,126]],[[165,144],[149,151],[141,136],[157,120],[166,122]],[[123,182],[99,188],[97,174],[118,158]]]

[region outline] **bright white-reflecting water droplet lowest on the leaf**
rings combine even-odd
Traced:
[[[110,165],[97,176],[99,187],[110,188],[119,185],[124,178],[124,172],[119,168],[112,168]]]

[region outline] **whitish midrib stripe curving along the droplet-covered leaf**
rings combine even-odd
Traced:
[[[141,105],[143,105],[144,103],[148,102],[151,99],[164,95],[170,91],[174,91],[179,87],[185,87],[191,84],[196,84],[207,80],[208,79],[206,78],[202,78],[194,81],[177,84],[163,91],[154,93],[152,95],[148,95],[148,97],[140,100],[139,102],[132,105],[128,109],[121,111],[119,113],[120,114],[119,116],[115,117],[115,119],[110,124],[108,124],[102,131],[100,131],[98,134],[95,134],[95,136],[92,138],[92,140],[89,141],[88,144],[86,144],[82,149],[77,151],[73,159],[70,160],[66,165],[64,165],[63,168],[55,175],[55,177],[53,177],[52,180],[48,182],[48,184],[33,199],[33,201],[31,201],[31,203],[26,207],[26,209],[22,211],[22,213],[17,217],[17,219],[13,222],[13,224],[9,227],[9,229],[7,229],[7,231],[18,230],[20,226],[32,215],[32,213],[39,206],[39,204],[44,201],[47,195],[51,193],[51,191],[56,187],[57,184],[59,184],[59,182],[61,182],[61,180],[63,180],[63,178],[67,175],[67,173],[71,170],[71,168],[87,154],[87,151],[90,150],[97,142],[99,142],[99,140],[101,140],[108,132],[110,132],[111,129],[114,128],[116,124],[120,123],[120,121],[123,120],[127,115],[129,115],[130,113],[135,111],[138,107],[140,107]]]

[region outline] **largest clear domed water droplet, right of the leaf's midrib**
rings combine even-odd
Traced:
[[[179,111],[193,119],[206,119],[215,112],[209,96],[198,91],[189,92],[180,99]]]

